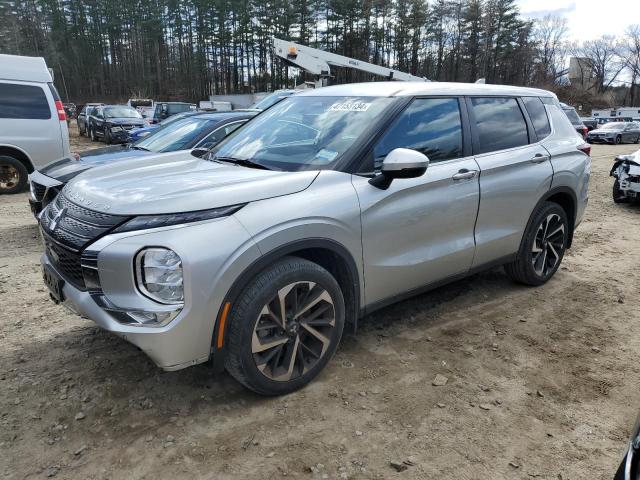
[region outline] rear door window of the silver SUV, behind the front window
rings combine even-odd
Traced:
[[[472,98],[480,138],[478,153],[494,152],[529,143],[527,122],[515,98]]]

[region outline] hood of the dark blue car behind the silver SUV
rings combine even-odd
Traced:
[[[128,145],[114,145],[112,147],[96,148],[80,154],[80,158],[65,157],[51,162],[40,169],[40,173],[66,183],[76,175],[107,162],[115,162],[126,158],[151,155],[153,152],[134,150]]]

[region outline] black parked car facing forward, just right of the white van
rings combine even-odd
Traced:
[[[143,127],[145,121],[135,108],[126,105],[100,105],[91,110],[87,125],[92,141],[102,138],[104,143],[110,145],[127,142],[129,130]]]

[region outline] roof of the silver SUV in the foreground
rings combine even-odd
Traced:
[[[537,88],[510,85],[486,85],[454,82],[368,82],[350,83],[302,91],[296,97],[363,96],[407,97],[415,95],[487,95],[533,96],[556,98],[555,94]]]

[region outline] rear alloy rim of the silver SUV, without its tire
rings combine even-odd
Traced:
[[[560,262],[565,245],[565,228],[560,215],[551,213],[542,220],[531,249],[533,270],[546,277]]]

